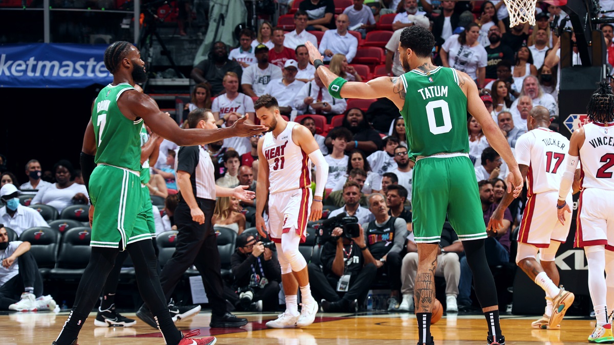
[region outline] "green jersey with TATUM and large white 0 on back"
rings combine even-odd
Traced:
[[[405,87],[401,115],[410,156],[469,152],[467,96],[458,85],[455,69],[417,69],[400,76]]]

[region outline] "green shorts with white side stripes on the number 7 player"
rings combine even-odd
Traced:
[[[137,174],[108,165],[94,169],[90,177],[90,198],[95,207],[90,246],[125,250],[132,242],[151,239],[141,193]]]

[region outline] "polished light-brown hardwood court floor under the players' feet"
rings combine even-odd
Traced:
[[[0,315],[0,344],[51,344],[60,332],[66,312],[6,313]],[[125,313],[137,319],[134,313]],[[215,335],[220,345],[372,345],[416,344],[418,331],[413,314],[369,313],[358,316],[318,314],[316,322],[304,329],[267,329],[265,322],[276,314],[243,314],[250,321],[241,328],[209,328],[210,312],[177,324],[182,331],[199,329],[201,336]],[[79,335],[79,345],[93,344],[164,344],[161,334],[138,320],[135,327],[99,328],[90,314]],[[501,325],[507,344],[586,344],[594,320],[565,319],[562,330],[535,330],[535,317],[502,316]],[[486,343],[486,320],[476,316],[445,316],[431,328],[435,344],[473,345]]]

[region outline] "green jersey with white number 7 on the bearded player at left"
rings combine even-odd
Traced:
[[[96,136],[96,164],[107,164],[133,171],[141,170],[141,133],[142,118],[133,121],[126,118],[117,99],[123,91],[134,90],[128,83],[107,85],[98,93],[93,109],[91,123]]]

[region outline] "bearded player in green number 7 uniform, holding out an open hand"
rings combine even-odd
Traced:
[[[145,122],[154,133],[178,145],[204,145],[233,136],[253,136],[265,126],[247,125],[243,117],[230,128],[182,130],[155,101],[134,90],[144,82],[144,62],[134,45],[114,42],[104,52],[104,65],[113,82],[92,104],[84,135],[81,167],[94,208],[90,262],[77,288],[77,296],[62,331],[53,344],[77,344],[77,336],[94,307],[104,282],[121,250],[128,250],[141,297],[152,312],[169,345],[213,345],[215,337],[188,339],[171,319],[156,271],[156,257],[142,206],[140,132]],[[94,156],[95,155],[95,156]]]

